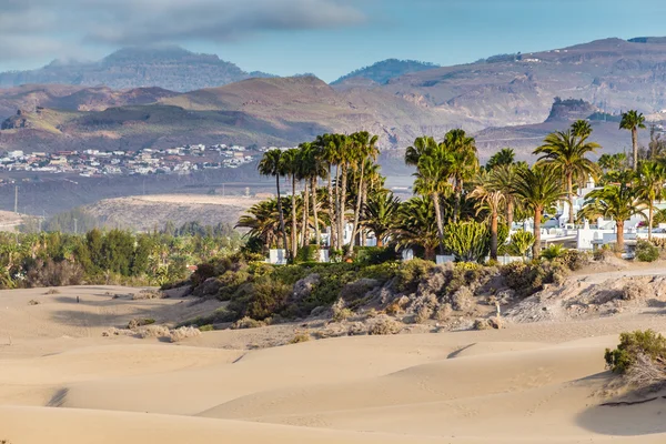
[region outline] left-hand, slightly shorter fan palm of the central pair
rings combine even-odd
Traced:
[[[421,155],[416,167],[414,192],[427,195],[433,200],[433,208],[437,223],[440,239],[444,238],[444,222],[442,220],[441,195],[451,188],[448,176],[453,159],[445,145],[440,144],[434,150],[428,150]]]

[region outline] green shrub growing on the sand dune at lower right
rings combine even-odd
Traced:
[[[664,362],[666,360],[666,337],[653,330],[622,333],[617,349],[606,349],[604,359],[609,370],[624,374],[636,363],[639,355],[646,355],[652,361]]]

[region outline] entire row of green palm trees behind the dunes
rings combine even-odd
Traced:
[[[584,120],[548,134],[534,150],[537,161],[532,167],[516,162],[508,148],[481,167],[474,138],[461,129],[448,131],[441,142],[417,138],[405,152],[405,163],[416,169],[415,195],[403,202],[384,188],[376,164],[376,135],[324,134],[296,149],[265,153],[259,171],[275,178],[278,198],[254,205],[239,226],[249,228],[264,248],[285,249],[291,260],[306,244],[321,245],[324,229],[329,246],[335,251],[344,246],[347,255],[372,232],[377,246],[391,242],[396,248],[421,249],[433,258],[437,251],[447,251],[445,231],[475,222],[487,224],[490,255],[496,259],[504,243],[500,233],[516,220],[532,219],[532,253],[538,258],[542,221],[555,214],[558,202],[567,202],[572,224],[582,218],[613,218],[617,248],[624,249],[625,221],[644,210],[652,236],[655,203],[664,196],[666,183],[666,160],[655,150],[639,159],[636,134],[645,128],[644,121],[636,111],[622,118],[620,129],[632,131],[630,164],[623,153],[591,160],[601,147],[591,141],[593,129]],[[282,196],[282,178],[291,184],[290,198]],[[587,195],[576,219],[576,188],[589,178],[603,188]],[[291,214],[291,223],[285,222],[285,214]],[[351,242],[345,246],[347,224]]]

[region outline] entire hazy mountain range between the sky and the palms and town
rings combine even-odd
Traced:
[[[462,127],[481,131],[482,157],[514,141],[527,150],[551,128],[566,125],[566,119],[546,122],[557,97],[610,114],[665,110],[666,39],[606,39],[443,68],[389,60],[331,85],[268,77],[171,47],[3,73],[0,85],[69,84],[0,89],[0,119],[9,118],[0,149],[295,145],[322,132],[357,130],[380,134],[383,148],[404,148],[417,135]],[[608,150],[627,144],[616,122],[594,125]]]

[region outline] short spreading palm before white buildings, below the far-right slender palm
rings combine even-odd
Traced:
[[[617,232],[617,251],[624,251],[624,224],[634,215],[644,214],[644,201],[629,183],[614,183],[587,194],[581,214],[587,219],[612,218]]]

